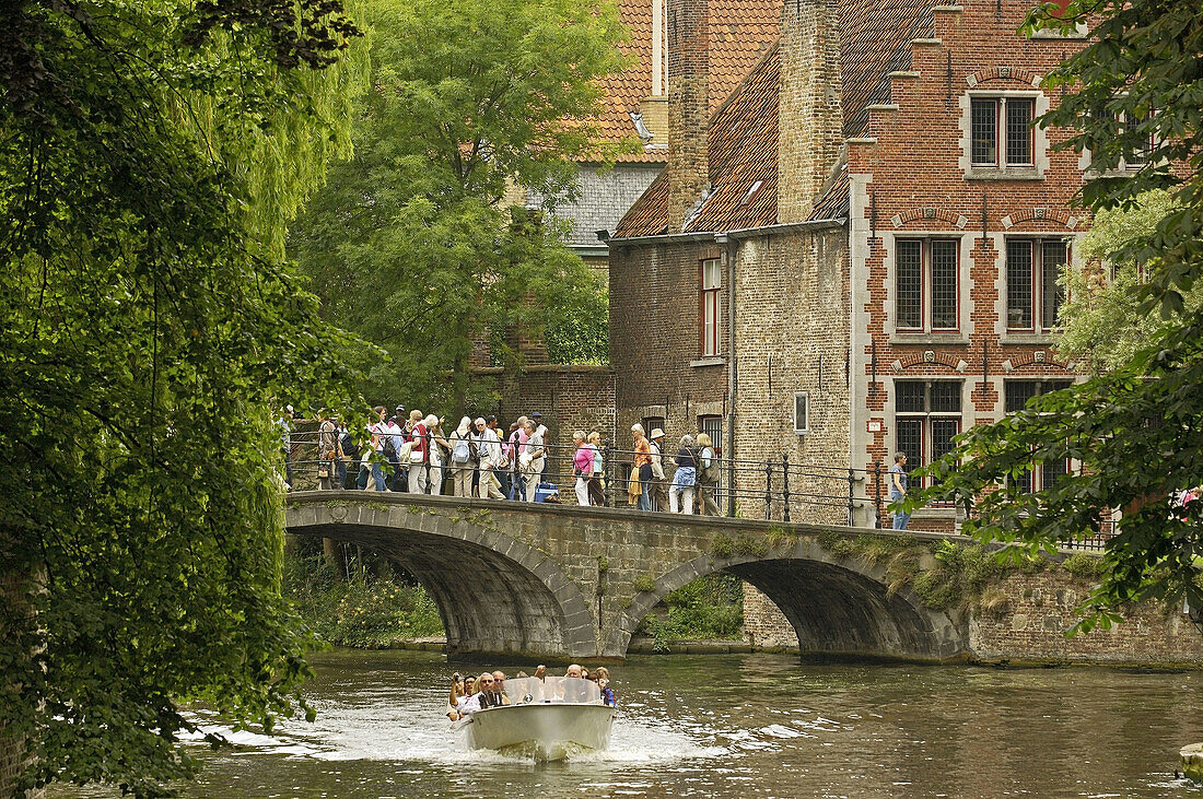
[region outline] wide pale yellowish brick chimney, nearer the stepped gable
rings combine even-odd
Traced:
[[[801,222],[840,157],[843,113],[836,0],[786,0],[781,19],[777,221]]]

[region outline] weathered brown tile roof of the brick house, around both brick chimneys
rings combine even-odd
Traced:
[[[711,8],[713,8],[712,0]],[[888,102],[889,73],[911,66],[912,38],[929,36],[931,0],[842,0],[841,78],[843,129],[857,136],[866,107]],[[683,233],[723,232],[777,222],[777,102],[780,60],[774,46],[710,119],[707,154],[711,191],[683,226]],[[812,220],[848,215],[847,169],[834,177],[814,203]],[[627,211],[614,238],[659,235],[668,231],[668,174],[648,186]]]

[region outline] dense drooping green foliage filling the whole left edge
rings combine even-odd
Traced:
[[[348,344],[278,254],[349,145],[355,34],[338,2],[0,5],[0,745],[34,756],[22,786],[156,795],[196,768],[186,703],[271,727],[298,698],[271,404],[345,382]]]

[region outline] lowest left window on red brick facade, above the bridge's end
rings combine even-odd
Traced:
[[[961,431],[961,388],[955,380],[900,380],[894,383],[895,446],[918,469],[953,451]]]

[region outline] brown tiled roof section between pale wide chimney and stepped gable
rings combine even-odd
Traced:
[[[860,136],[866,108],[890,101],[890,72],[911,68],[911,40],[932,35],[931,0],[841,0],[843,135]]]

